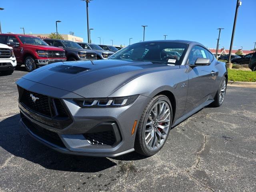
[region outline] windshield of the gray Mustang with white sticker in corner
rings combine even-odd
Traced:
[[[172,42],[143,42],[132,44],[110,56],[110,59],[142,60],[180,65],[187,44]]]

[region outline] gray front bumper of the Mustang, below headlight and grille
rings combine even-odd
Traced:
[[[37,89],[41,90],[47,87],[42,84],[38,86],[40,88]],[[136,130],[132,135],[132,127],[135,120],[140,120],[149,99],[139,96],[133,104],[120,108],[80,108],[72,99],[64,98],[62,101],[72,118],[72,123],[64,128],[49,126],[40,114],[31,112],[19,104],[22,117],[20,124],[33,138],[62,153],[102,157],[120,156],[134,151]],[[33,125],[39,127],[39,131],[43,130],[50,132],[50,135],[55,135],[55,140],[38,133],[38,130],[31,127]],[[106,130],[112,131],[114,143],[103,145],[97,143],[97,140],[92,143],[93,138],[87,136],[91,132],[105,132]]]

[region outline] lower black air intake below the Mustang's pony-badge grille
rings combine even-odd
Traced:
[[[33,134],[37,135],[38,137],[62,148],[66,148],[56,132],[42,128],[41,126],[34,124],[25,117],[22,117],[22,122]]]

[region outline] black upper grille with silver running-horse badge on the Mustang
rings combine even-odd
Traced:
[[[47,117],[68,117],[60,99],[50,98],[43,94],[28,91],[19,87],[19,101],[27,108]],[[34,101],[33,101],[34,99]]]

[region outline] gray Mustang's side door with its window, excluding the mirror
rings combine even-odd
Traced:
[[[194,66],[197,58],[208,58],[211,64]],[[218,75],[214,65],[217,62],[214,56],[201,46],[194,46],[190,51],[186,64],[188,68],[188,96],[185,113],[213,97],[212,91]]]

